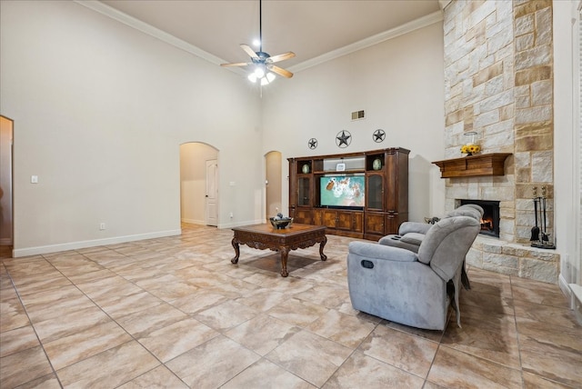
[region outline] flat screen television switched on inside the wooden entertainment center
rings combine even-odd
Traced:
[[[324,175],[319,179],[319,205],[327,208],[364,208],[364,175]]]

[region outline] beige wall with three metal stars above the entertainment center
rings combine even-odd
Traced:
[[[410,220],[444,213],[444,180],[432,161],[444,159],[443,25],[428,25],[351,55],[297,73],[263,93],[264,150],[286,158],[375,150],[410,149]],[[273,88],[271,88],[273,86]],[[366,118],[351,121],[351,112]],[[384,129],[386,140],[372,134]],[[352,143],[336,145],[347,130]],[[315,150],[307,141],[315,137]],[[284,181],[288,206],[288,181]]]

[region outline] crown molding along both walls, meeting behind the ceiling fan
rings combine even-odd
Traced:
[[[220,65],[220,64],[225,64],[226,62],[228,62],[222,58],[217,57],[216,55],[211,55],[210,53],[207,53],[206,51],[196,47],[195,45],[190,45],[186,41],[183,41],[182,39],[176,38],[176,36],[170,35],[170,34],[166,33],[165,31],[162,31],[159,28],[154,27],[153,25],[148,25],[148,24],[142,22],[141,20],[136,19],[133,16],[126,15],[123,12],[120,12],[109,5],[105,5],[105,4],[101,3],[100,1],[97,1],[97,0],[74,0],[74,1],[78,5],[83,5],[89,9],[94,10],[95,12],[98,12],[99,14],[108,16],[108,17],[110,17],[110,18],[112,18],[120,23],[123,23],[124,25],[135,28],[136,30],[141,31],[142,33],[144,33],[146,35],[153,36],[156,39],[159,39],[160,41],[165,42],[168,45],[173,45],[181,50],[186,51],[187,53],[190,53],[192,55],[196,55],[202,59],[205,59],[206,61],[210,62],[211,64]],[[447,2],[450,0],[439,0],[439,3],[441,1]],[[413,32],[419,28],[426,27],[427,25],[433,25],[435,23],[441,22],[442,20],[443,20],[443,12],[437,11],[437,12],[434,12],[430,15],[419,17],[418,19],[413,20],[412,22],[408,22],[405,25],[399,25],[399,26],[392,28],[390,30],[387,30],[383,33],[369,36],[366,39],[362,39],[361,41],[358,41],[358,42],[353,43],[351,45],[346,45],[344,47],[340,47],[336,50],[330,51],[324,55],[316,56],[315,58],[311,58],[305,62],[291,66],[288,69],[289,69],[289,71],[292,71],[294,73],[300,72],[300,71],[305,70],[309,67],[323,64],[323,63],[325,63],[327,61],[331,61],[332,59],[335,59],[337,57],[354,53],[358,50],[362,50],[362,49],[369,47],[369,46],[372,46],[372,45],[377,45],[377,44],[385,42],[389,39],[396,38],[397,36],[404,35],[404,34]],[[246,75],[246,72],[240,68],[228,67],[227,70],[235,72],[239,75]]]

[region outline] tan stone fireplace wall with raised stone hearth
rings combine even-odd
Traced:
[[[477,132],[482,154],[511,153],[505,175],[447,179],[446,209],[458,199],[500,201],[499,239],[477,238],[467,263],[557,282],[559,257],[530,247],[533,188],[547,189],[553,227],[551,0],[453,0],[444,9],[446,157]]]

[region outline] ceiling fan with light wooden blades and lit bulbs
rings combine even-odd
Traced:
[[[221,66],[248,66],[254,65],[255,69],[253,73],[248,75],[248,79],[252,82],[256,82],[257,80],[261,81],[261,85],[270,84],[275,79],[275,74],[282,75],[286,78],[293,77],[293,73],[289,72],[288,70],[273,65],[276,62],[284,61],[289,58],[293,58],[295,53],[287,52],[285,54],[280,55],[268,55],[263,51],[263,6],[262,1],[259,0],[259,49],[256,52],[251,48],[249,45],[241,44],[240,46],[245,51],[247,55],[251,57],[251,62],[238,62],[236,64],[220,64]]]

